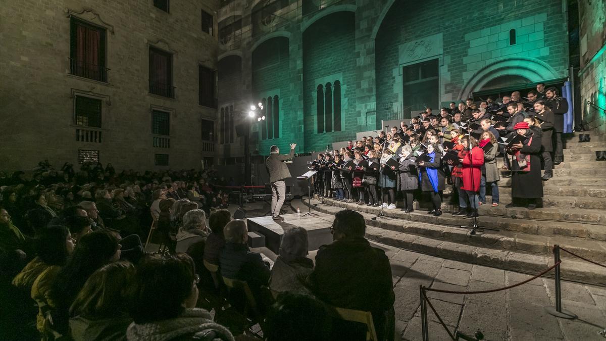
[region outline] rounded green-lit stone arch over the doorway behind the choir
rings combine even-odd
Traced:
[[[485,84],[503,76],[519,76],[528,79],[528,83],[548,81],[561,76],[547,63],[528,57],[504,58],[488,64],[474,73],[465,82],[458,98],[467,98],[472,92],[484,88]]]

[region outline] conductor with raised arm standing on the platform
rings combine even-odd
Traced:
[[[271,217],[273,220],[282,221],[284,218],[280,216],[280,209],[284,204],[286,195],[285,178],[290,178],[290,172],[284,161],[295,156],[296,143],[290,144],[290,154],[280,155],[278,146],[271,146],[270,155],[265,160],[265,167],[269,173],[269,181],[271,183]]]

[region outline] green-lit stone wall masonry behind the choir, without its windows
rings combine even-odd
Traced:
[[[285,18],[281,24],[256,33],[251,8],[259,10],[259,2],[234,0],[219,10],[220,18],[242,18],[242,29],[232,39],[240,43],[221,49],[247,56],[265,41],[288,38],[287,93],[278,68],[273,74],[264,72],[261,84],[255,81],[255,66],[242,61],[244,98],[281,89],[280,97],[291,101],[292,112],[282,116],[281,137],[271,141],[282,148],[295,139],[301,152],[324,149],[347,140],[348,134],[380,128],[381,120],[401,117],[407,106],[402,67],[419,61],[439,59],[439,103],[431,106],[466,98],[503,75],[528,83],[568,76],[567,13],[561,2],[430,0],[419,6],[412,1],[344,0],[308,13],[302,1],[290,1],[276,12]],[[512,29],[515,44],[509,41]],[[337,78],[345,88],[342,131],[318,133],[316,87]],[[258,147],[263,152],[268,143]],[[231,147],[231,156],[237,149]]]

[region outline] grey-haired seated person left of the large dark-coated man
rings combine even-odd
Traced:
[[[307,293],[304,283],[313,270],[313,261],[307,258],[309,242],[307,230],[294,227],[284,231],[280,255],[271,269],[269,288],[275,292]]]

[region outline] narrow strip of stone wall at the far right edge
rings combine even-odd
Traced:
[[[606,111],[602,109],[606,109],[606,1],[591,1],[591,5],[587,1],[579,1],[579,16],[583,121],[585,129],[593,129],[604,138]]]

